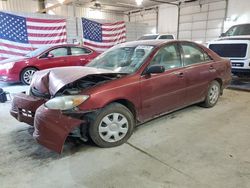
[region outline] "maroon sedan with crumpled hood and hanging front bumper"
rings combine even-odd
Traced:
[[[195,103],[214,106],[230,80],[229,60],[199,44],[128,42],[85,67],[35,73],[11,114],[34,125],[34,138],[56,152],[68,136],[112,147],[147,120]]]

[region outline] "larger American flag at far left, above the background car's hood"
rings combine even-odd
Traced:
[[[0,61],[66,41],[64,19],[37,19],[0,12]]]

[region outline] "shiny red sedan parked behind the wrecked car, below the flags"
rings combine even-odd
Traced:
[[[0,81],[21,81],[29,85],[37,70],[83,66],[98,55],[97,52],[88,47],[69,44],[38,48],[23,58],[7,59],[0,62]]]

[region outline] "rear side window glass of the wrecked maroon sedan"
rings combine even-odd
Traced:
[[[211,60],[210,57],[198,46],[194,46],[192,44],[182,44],[182,49],[185,65],[192,65]]]

